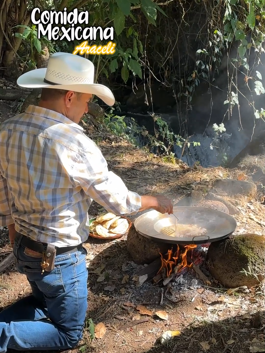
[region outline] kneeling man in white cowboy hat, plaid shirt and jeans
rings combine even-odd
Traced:
[[[171,214],[172,204],[129,191],[78,125],[93,94],[114,104],[110,89],[94,84],[92,62],[56,53],[47,69],[17,83],[42,94],[39,106],[0,126],[0,226],[9,229],[17,270],[32,294],[0,312],[0,352],[69,349],[80,341],[86,317],[82,244],[92,200],[117,215],[151,208]]]

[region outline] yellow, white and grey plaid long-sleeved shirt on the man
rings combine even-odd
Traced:
[[[0,226],[14,223],[58,247],[78,245],[88,238],[93,200],[117,215],[141,207],[81,126],[32,105],[0,125]]]

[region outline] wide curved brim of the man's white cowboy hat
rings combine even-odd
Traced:
[[[99,97],[108,106],[113,106],[115,98],[112,91],[104,86],[97,83],[93,84],[82,84],[73,83],[69,85],[52,85],[44,82],[46,68],[37,68],[29,72],[24,73],[17,79],[17,84],[24,88],[55,88],[64,89],[67,91],[74,91],[80,93],[94,94]]]

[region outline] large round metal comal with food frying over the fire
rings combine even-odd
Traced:
[[[144,237],[170,244],[211,243],[229,237],[236,226],[233,217],[203,207],[174,207],[172,215],[152,210],[134,222],[136,231]]]

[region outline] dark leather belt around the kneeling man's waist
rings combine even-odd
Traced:
[[[16,238],[17,240],[19,240],[19,238],[21,238],[20,240],[20,244],[28,247],[30,250],[36,251],[36,252],[40,252],[43,253],[43,251],[46,250],[47,247],[47,243],[39,243],[38,241],[32,240],[29,237],[26,237],[25,235],[16,234]],[[56,247],[56,255],[63,255],[63,254],[69,254],[72,252],[76,252],[76,251],[80,251],[82,249],[83,244],[79,244],[79,245],[74,245],[74,246],[65,246],[65,247]]]

